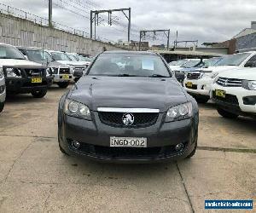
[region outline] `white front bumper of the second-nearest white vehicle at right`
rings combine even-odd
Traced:
[[[185,79],[184,80],[184,88],[191,95],[204,95],[210,96],[210,91],[213,83],[212,78],[200,78],[196,80]],[[193,87],[187,87],[187,83],[193,83]]]

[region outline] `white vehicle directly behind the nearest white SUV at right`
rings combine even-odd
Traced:
[[[184,87],[190,95],[195,97],[196,101],[206,103],[210,99],[212,83],[218,73],[227,70],[236,72],[236,69],[241,67],[252,66],[253,61],[256,61],[256,51],[225,55],[215,66],[202,68],[197,72],[188,72]]]

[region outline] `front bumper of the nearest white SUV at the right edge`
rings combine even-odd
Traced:
[[[215,96],[216,89],[224,90],[226,95],[231,95],[233,97],[232,101]],[[253,97],[256,100],[255,90],[247,90],[241,87],[223,87],[214,83],[212,85],[211,97],[219,107],[223,107],[225,110],[246,116],[256,115],[256,103],[247,102],[248,97]]]

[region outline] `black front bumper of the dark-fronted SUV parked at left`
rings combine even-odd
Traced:
[[[42,78],[42,83],[32,83],[32,78],[6,78],[6,90],[9,94],[26,94],[47,89],[49,79]]]

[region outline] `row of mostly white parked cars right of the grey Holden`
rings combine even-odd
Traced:
[[[212,99],[224,118],[256,118],[256,51],[204,60],[179,72],[184,79],[176,73],[177,79],[197,102]]]

